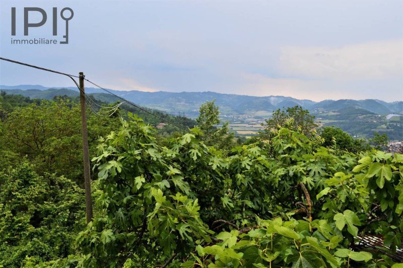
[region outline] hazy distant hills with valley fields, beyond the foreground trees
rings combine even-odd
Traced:
[[[21,89],[18,86],[0,86],[2,88],[8,94],[21,94],[31,98],[52,99],[60,95],[79,95],[75,88],[46,89],[29,85],[22,85]],[[314,114],[321,125],[340,127],[351,136],[370,139],[375,132],[379,132],[385,133],[391,141],[403,140],[403,101],[387,103],[380,100],[341,99],[313,102],[284,96],[255,97],[215,92],[110,91],[143,107],[191,118],[199,115],[198,108],[201,104],[215,100],[220,106],[222,120],[228,120],[230,127],[240,130],[234,131],[236,135],[246,138],[257,134],[259,127],[245,129],[239,128],[239,124],[258,126],[277,109],[298,105]],[[101,89],[87,88],[86,92],[104,103],[118,101],[115,96],[102,93]],[[393,114],[394,117],[390,118]]]

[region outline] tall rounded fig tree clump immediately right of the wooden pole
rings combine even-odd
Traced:
[[[168,160],[175,151],[159,147],[151,127],[129,116],[135,121],[123,122],[119,131],[106,137],[100,156],[93,159],[101,213],[79,234],[85,265],[123,265],[130,256],[147,263],[175,249],[191,251],[196,240],[209,239],[197,198],[187,197],[189,183],[179,166]],[[191,139],[193,135],[185,135],[179,145]]]

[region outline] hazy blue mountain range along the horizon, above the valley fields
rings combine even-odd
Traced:
[[[54,96],[68,95],[78,96],[78,89],[68,88],[47,88],[40,85],[0,85],[0,90],[9,94],[20,94],[30,98],[52,99]],[[109,89],[108,89],[109,90]],[[347,108],[363,109],[369,113],[403,114],[403,101],[384,102],[376,99],[366,100],[324,100],[314,102],[311,100],[299,100],[285,96],[256,97],[235,94],[221,94],[216,92],[144,92],[144,91],[117,91],[109,90],[129,101],[139,105],[159,109],[168,113],[184,112],[189,116],[196,116],[198,108],[207,100],[216,99],[222,114],[239,115],[255,111],[273,111],[283,107],[300,105],[311,111],[340,111]],[[105,94],[101,89],[86,88],[88,94],[106,102],[116,101],[116,97]]]

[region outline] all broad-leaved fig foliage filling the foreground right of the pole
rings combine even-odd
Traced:
[[[402,155],[369,152],[357,162],[290,127],[262,148],[239,146],[226,157],[200,143],[198,129],[161,147],[153,129],[130,116],[93,159],[102,213],[79,234],[76,264],[393,264],[351,248],[374,230],[391,252],[401,246]]]

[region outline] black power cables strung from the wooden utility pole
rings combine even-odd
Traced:
[[[134,107],[136,107],[136,108],[138,108],[138,109],[140,109],[140,110],[142,110],[142,111],[144,111],[144,112],[146,112],[146,113],[148,113],[148,114],[150,114],[150,115],[152,115],[152,116],[155,116],[155,117],[161,119],[162,121],[164,121],[164,122],[166,122],[166,123],[169,123],[169,124],[171,124],[171,125],[174,125],[174,126],[180,128],[180,129],[182,129],[182,130],[186,130],[184,127],[181,127],[181,126],[179,126],[179,125],[177,125],[177,124],[175,124],[175,123],[173,123],[173,122],[171,122],[171,121],[169,121],[169,120],[166,120],[166,119],[164,119],[164,118],[162,118],[162,117],[160,117],[160,116],[158,116],[158,115],[156,115],[156,114],[154,114],[154,113],[152,113],[152,112],[150,112],[150,111],[147,111],[146,109],[144,109],[144,108],[142,108],[142,107],[136,105],[135,103],[132,103],[131,101],[128,101],[128,100],[126,100],[126,99],[124,99],[124,98],[122,98],[122,97],[120,97],[120,96],[114,94],[113,92],[110,92],[109,90],[104,89],[104,88],[101,87],[101,86],[98,86],[97,84],[91,82],[91,81],[88,80],[88,79],[85,79],[85,78],[84,78],[84,80],[86,80],[86,81],[88,81],[89,83],[93,84],[94,86],[96,86],[96,87],[98,87],[98,88],[100,88],[100,89],[102,89],[102,90],[108,92],[109,94],[111,94],[111,95],[113,95],[113,96],[115,96],[115,97],[117,97],[117,98],[123,100],[123,102],[121,102],[121,103],[119,103],[119,104],[116,104],[116,105],[113,106],[113,107],[101,106],[101,105],[97,104],[95,101],[93,101],[89,95],[87,95],[85,92],[82,91],[82,89],[80,88],[80,86],[77,84],[76,80],[73,78],[73,77],[80,78],[80,77],[78,77],[78,76],[70,75],[70,74],[66,74],[66,73],[62,73],[62,72],[57,72],[57,71],[54,71],[54,70],[42,68],[42,67],[35,66],[35,65],[31,65],[31,64],[28,64],[28,63],[20,62],[20,61],[17,61],[17,60],[12,60],[12,59],[9,59],[9,58],[0,57],[0,59],[6,60],[6,61],[9,61],[9,62],[13,62],[13,63],[17,63],[17,64],[20,64],[20,65],[28,66],[28,67],[31,67],[31,68],[35,68],[35,69],[38,69],[38,70],[42,70],[42,71],[46,71],[46,72],[51,72],[51,73],[55,73],[55,74],[67,76],[67,77],[71,78],[71,79],[73,80],[73,82],[76,84],[76,86],[77,86],[77,88],[79,89],[79,91],[84,95],[84,98],[85,98],[87,104],[89,105],[90,109],[91,109],[95,114],[97,114],[97,115],[109,117],[109,116],[111,116],[112,114],[114,114],[114,113],[117,111],[117,109],[120,107],[120,105],[122,105],[122,104],[124,104],[124,103],[127,103],[127,104],[130,104],[130,105],[132,105],[132,106],[134,106]],[[92,102],[92,103],[91,103],[91,102]],[[99,114],[99,112],[105,112],[105,111],[101,111],[100,109],[97,110],[96,108],[94,108],[94,104],[97,105],[97,106],[99,106],[99,107],[101,107],[101,108],[111,108],[110,110],[108,110],[108,111],[106,111],[106,112],[109,112],[109,111],[112,111],[112,110],[113,110],[113,112],[112,112],[111,114],[109,114],[109,115],[102,115],[102,114]]]

